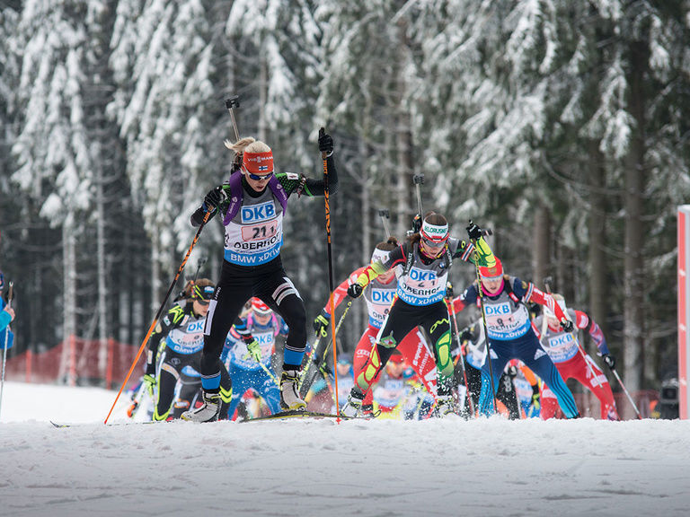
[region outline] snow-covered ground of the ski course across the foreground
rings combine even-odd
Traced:
[[[102,425],[114,399],[5,383],[0,515],[690,514],[687,421]]]

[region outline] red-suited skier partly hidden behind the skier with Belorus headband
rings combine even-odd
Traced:
[[[376,249],[371,256],[372,263],[376,261],[385,262],[392,250],[399,246],[395,237],[390,237],[388,241],[379,242],[376,244]],[[358,276],[364,271],[365,267],[359,267],[353,271],[348,280],[344,281],[334,292],[333,303],[337,307],[348,295],[348,287],[357,282]],[[355,348],[353,366],[355,369],[355,379],[364,370],[367,364],[369,355],[371,355],[372,347],[376,345],[376,337],[384,324],[385,317],[391,309],[391,304],[395,298],[395,292],[398,287],[397,277],[395,276],[395,268],[385,272],[385,274],[377,276],[365,289],[363,295],[367,301],[367,311],[369,313],[369,324],[365,329],[362,337],[359,338],[357,348]],[[321,313],[314,320],[314,330],[321,333],[323,337],[327,335],[327,327],[331,321],[330,306],[326,304]],[[400,345],[398,351],[403,354],[407,363],[412,367],[414,372],[419,375],[420,380],[429,393],[436,399],[436,362],[434,355],[429,351],[427,340],[418,328],[415,332],[408,334]],[[379,372],[376,380],[380,377]],[[373,408],[374,399],[371,390],[367,390],[364,401],[362,403],[362,410],[368,414]]]

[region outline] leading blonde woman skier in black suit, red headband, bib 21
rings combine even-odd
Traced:
[[[201,385],[204,405],[182,414],[185,420],[217,420],[220,411],[221,372],[226,372],[220,353],[227,332],[243,308],[244,302],[256,296],[276,311],[288,324],[290,333],[285,344],[283,372],[280,377],[280,407],[304,409],[305,401],[297,390],[298,372],[305,355],[305,304],[289,280],[280,259],[283,244],[283,215],[288,197],[324,196],[324,180],[312,180],[302,174],[273,172],[270,147],[252,137],[226,147],[240,153],[242,162],[230,179],[211,189],[204,203],[191,215],[199,226],[208,211],[219,212],[225,225],[225,255],[216,292],[204,328],[204,350],[201,356]],[[329,192],[338,189],[333,159],[332,137],[321,132],[319,151],[327,153]]]

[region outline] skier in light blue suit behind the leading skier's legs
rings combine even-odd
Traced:
[[[247,349],[243,336],[251,333],[261,346],[261,356],[257,357]],[[259,298],[252,299],[252,309],[235,324],[226,337],[226,346],[221,361],[233,380],[233,398],[227,408],[228,418],[232,418],[235,409],[242,400],[246,390],[255,390],[266,405],[271,415],[280,410],[280,390],[276,372],[271,365],[271,357],[276,348],[276,339],[288,337],[288,325],[277,314],[270,310]],[[258,360],[257,360],[258,359]]]

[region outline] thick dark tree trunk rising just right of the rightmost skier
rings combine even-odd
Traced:
[[[644,92],[642,91],[647,47],[643,42],[631,45],[628,83],[629,110],[635,119],[630,148],[625,158],[625,259],[624,259],[624,360],[625,384],[630,391],[641,389],[643,370],[642,294],[644,293],[644,224],[642,195],[644,171]]]

